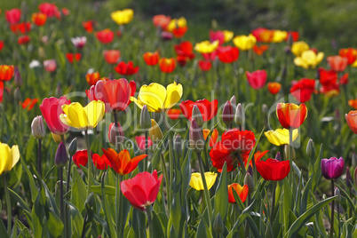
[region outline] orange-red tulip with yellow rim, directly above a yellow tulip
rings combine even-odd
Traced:
[[[304,103],[300,106],[294,103],[278,103],[276,115],[283,128],[297,129],[307,117],[307,108]]]

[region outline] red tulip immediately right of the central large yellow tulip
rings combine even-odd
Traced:
[[[191,121],[192,119],[192,109],[196,105],[201,112],[203,122],[210,121],[218,112],[218,99],[214,99],[211,102],[208,99],[201,99],[197,101],[186,100],[179,104],[182,114]]]

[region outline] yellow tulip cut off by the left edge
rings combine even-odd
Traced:
[[[19,162],[19,147],[12,146],[10,148],[7,144],[0,143],[0,158],[0,174],[11,171],[13,166]]]

